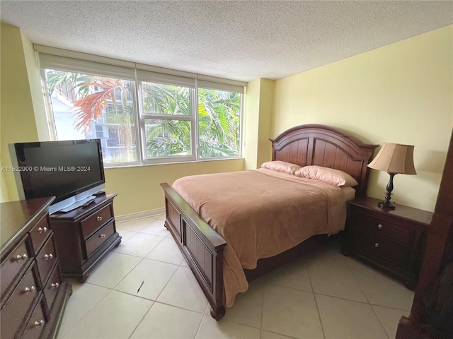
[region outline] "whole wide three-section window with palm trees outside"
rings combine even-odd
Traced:
[[[47,54],[55,52],[51,47],[35,49],[54,137],[100,138],[105,166],[241,155],[245,83],[76,52],[57,50],[86,59]]]

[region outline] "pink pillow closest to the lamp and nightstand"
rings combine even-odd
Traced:
[[[305,166],[297,169],[294,174],[297,177],[319,180],[333,186],[357,186],[359,183],[348,173],[338,169],[321,167],[321,166]]]

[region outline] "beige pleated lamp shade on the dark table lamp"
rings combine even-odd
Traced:
[[[384,143],[368,167],[394,174],[417,174],[413,166],[413,146]]]

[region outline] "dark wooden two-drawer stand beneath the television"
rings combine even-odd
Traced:
[[[88,206],[50,215],[64,278],[84,282],[96,264],[120,244],[113,213],[115,196],[99,194]]]

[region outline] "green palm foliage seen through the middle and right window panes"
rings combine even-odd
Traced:
[[[190,114],[188,90],[150,84],[143,88],[145,112]],[[198,133],[201,157],[239,155],[241,95],[198,89]],[[159,112],[159,113],[158,113]],[[156,119],[147,124],[147,155],[190,155],[190,124],[183,120]]]

